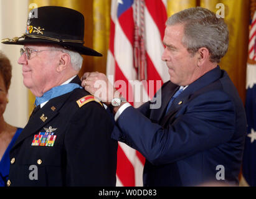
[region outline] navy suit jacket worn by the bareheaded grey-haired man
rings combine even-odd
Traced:
[[[151,102],[126,108],[111,137],[146,157],[145,186],[237,184],[246,120],[229,76],[214,68],[187,86],[165,115],[178,87],[170,81],[162,86],[159,109],[150,109]]]

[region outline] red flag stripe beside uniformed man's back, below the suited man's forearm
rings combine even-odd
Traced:
[[[135,169],[118,145],[116,174],[125,187],[135,187]]]

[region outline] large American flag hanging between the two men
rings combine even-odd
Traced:
[[[163,37],[167,19],[166,0],[112,0],[110,46],[107,58],[107,75],[126,83],[122,95],[135,107],[135,96],[151,99],[156,90],[169,80],[168,68],[161,60]],[[131,80],[143,81],[135,92]],[[154,80],[154,81],[150,81]],[[158,80],[158,81],[157,81]],[[119,81],[120,82],[120,81]],[[154,83],[153,88],[151,83]],[[159,83],[160,82],[160,83]],[[142,186],[145,159],[136,150],[118,143],[117,186]]]

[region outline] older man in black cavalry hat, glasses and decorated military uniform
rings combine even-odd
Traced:
[[[2,40],[24,45],[18,63],[37,106],[11,149],[7,186],[115,186],[113,122],[77,76],[81,54],[101,56],[83,46],[83,15],[55,6],[33,13],[26,34]]]

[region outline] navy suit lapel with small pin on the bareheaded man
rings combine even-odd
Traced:
[[[221,70],[219,66],[217,66],[216,68],[212,69],[208,73],[201,76],[201,78],[187,86],[187,88],[177,98],[174,99],[173,103],[171,104],[171,107],[169,108],[168,114],[164,115],[165,113],[162,113],[163,119],[161,120],[160,123],[161,126],[164,126],[164,124],[166,124],[171,117],[175,116],[177,111],[181,109],[184,106],[184,104],[187,103],[187,101],[189,101],[191,96],[196,91],[200,90],[201,88],[204,88],[204,86],[207,86],[216,80],[219,80],[220,76]],[[164,108],[164,110],[165,109],[166,108]]]

